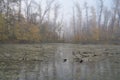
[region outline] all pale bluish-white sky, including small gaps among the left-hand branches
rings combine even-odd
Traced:
[[[40,2],[41,0],[35,0],[37,2]],[[46,0],[42,0],[46,1]],[[84,10],[84,2],[88,3],[88,6],[94,6],[95,8],[98,6],[98,0],[55,0],[56,2],[59,2],[61,4],[61,9],[59,14],[64,14],[64,20],[68,21],[72,15],[72,8],[76,2],[80,3],[80,6],[82,10]],[[105,6],[111,6],[111,0],[103,0]],[[42,3],[44,6],[45,3]],[[51,14],[53,16],[54,14]]]

